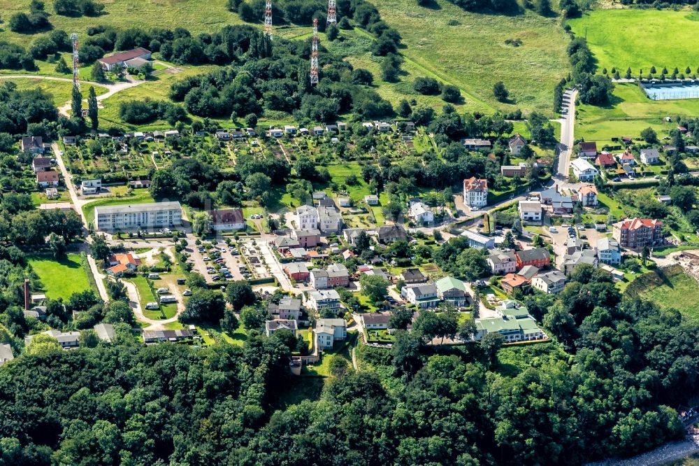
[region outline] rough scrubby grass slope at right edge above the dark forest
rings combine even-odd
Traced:
[[[699,321],[699,283],[673,266],[636,278],[626,289],[628,295],[638,295],[661,308],[673,307],[690,320]]]

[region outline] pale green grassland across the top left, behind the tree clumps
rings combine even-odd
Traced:
[[[3,20],[19,11],[29,12],[30,0],[0,0]],[[108,24],[126,29],[129,27],[186,27],[192,35],[212,32],[227,24],[239,24],[238,15],[226,9],[226,1],[209,0],[103,0],[106,14],[96,18],[66,17],[55,15],[53,0],[44,0],[45,10],[51,13],[54,29],[64,29],[69,34],[85,34],[88,25]],[[0,32],[0,40],[11,40],[27,45],[32,36],[16,34],[7,27]]]

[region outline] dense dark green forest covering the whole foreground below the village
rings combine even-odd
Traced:
[[[517,366],[497,335],[431,346],[455,330],[421,318],[291,404],[314,383],[289,374],[276,334],[143,347],[122,324],[94,348],[33,341],[0,368],[0,464],[575,465],[679,437],[699,328],[600,271],[571,278],[555,301],[527,298],[556,341],[519,348]]]

